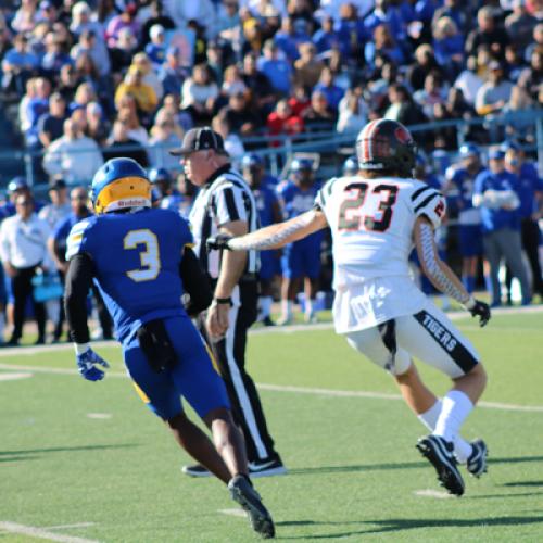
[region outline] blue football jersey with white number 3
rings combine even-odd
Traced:
[[[78,253],[92,258],[94,282],[125,342],[149,320],[186,315],[179,264],[191,243],[188,223],[173,211],[109,213],[72,228],[66,260]]]

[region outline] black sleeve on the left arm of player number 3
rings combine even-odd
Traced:
[[[64,310],[70,336],[75,343],[90,341],[87,325],[87,294],[92,286],[93,264],[86,253],[76,254],[70,262],[64,292]]]

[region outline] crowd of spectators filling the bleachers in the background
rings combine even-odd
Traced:
[[[156,198],[187,213],[193,187],[180,174],[172,191],[167,151],[193,126],[212,125],[241,164],[254,136],[272,148],[310,131],[354,140],[382,116],[415,125],[540,106],[542,16],[541,0],[0,0],[0,98],[17,106],[35,180],[86,185],[105,160],[130,156],[163,171],[171,185]],[[458,139],[532,149],[534,126],[416,138],[427,152],[454,154]]]

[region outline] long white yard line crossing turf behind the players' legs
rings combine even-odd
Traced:
[[[0,364],[0,370],[16,370],[16,371],[34,371],[36,374],[56,374],[56,375],[78,375],[76,369],[65,368],[49,368],[46,366],[18,366],[11,364]],[[128,376],[123,371],[108,371],[109,378],[127,378]],[[289,384],[268,384],[258,382],[258,389],[268,390],[270,392],[290,392],[295,394],[314,394],[320,396],[336,396],[336,397],[367,397],[374,400],[396,400],[401,401],[400,394],[391,394],[387,392],[371,392],[364,390],[333,390],[333,389],[318,389],[312,387],[292,387]],[[531,412],[543,413],[543,405],[520,405],[507,404],[501,402],[479,402],[478,407],[488,409],[500,411],[517,411],[517,412]]]

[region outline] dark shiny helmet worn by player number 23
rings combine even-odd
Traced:
[[[412,135],[395,121],[372,121],[356,138],[356,156],[362,171],[411,177],[416,153]]]

